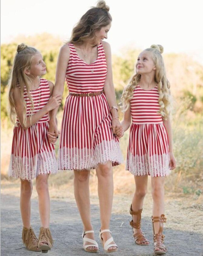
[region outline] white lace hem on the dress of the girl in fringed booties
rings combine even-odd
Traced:
[[[40,174],[55,174],[57,172],[55,151],[44,151],[32,158],[11,155],[9,176],[22,180],[32,180]]]

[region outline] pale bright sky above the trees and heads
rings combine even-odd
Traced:
[[[1,44],[17,35],[48,32],[68,40],[96,0],[1,0]],[[161,44],[203,64],[202,0],[106,0],[113,18],[107,41],[115,54],[126,47]]]

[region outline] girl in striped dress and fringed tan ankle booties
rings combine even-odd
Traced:
[[[41,78],[45,74],[41,53],[25,44],[18,45],[9,81],[10,118],[15,124],[9,175],[20,178],[23,243],[28,250],[44,253],[53,244],[49,230],[48,177],[58,172],[54,145],[48,140],[48,113],[61,104],[61,96],[51,97],[53,83]],[[34,178],[41,217],[39,239],[30,225]]]

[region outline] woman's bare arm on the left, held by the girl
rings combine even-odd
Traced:
[[[57,61],[57,67],[56,67],[56,78],[55,78],[55,86],[53,89],[53,96],[60,95],[62,97],[64,92],[64,82],[66,77],[66,70],[68,61],[70,58],[70,48],[67,44],[61,47],[58,55],[58,61]],[[56,123],[56,114],[58,111],[58,108],[55,108],[50,113],[50,121],[49,121],[49,133],[55,134],[56,137],[58,137],[58,128]],[[55,142],[52,141],[51,138],[49,138],[49,142],[54,144]]]

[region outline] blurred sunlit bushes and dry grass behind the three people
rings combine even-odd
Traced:
[[[44,78],[55,82],[55,68],[59,48],[64,44],[60,38],[44,33],[32,37],[18,37],[10,44],[1,45],[1,177],[7,176],[12,143],[13,126],[8,118],[7,93],[8,79],[17,44],[25,43],[39,49],[44,56],[47,73]],[[119,104],[123,88],[134,72],[137,55],[142,49],[126,47],[119,55],[112,56],[113,80]],[[174,155],[177,168],[166,179],[166,192],[180,192],[202,196],[203,182],[203,65],[186,54],[163,54],[168,80],[171,83],[173,102],[172,126],[174,136]],[[65,86],[63,104],[68,90]],[[63,110],[58,113],[59,125]],[[122,113],[119,111],[122,118]],[[120,140],[124,157],[128,145],[128,132]],[[56,151],[58,144],[56,146]],[[92,180],[96,178],[91,171]],[[61,187],[73,180],[73,172],[62,172],[50,177],[51,186]],[[133,177],[125,171],[125,164],[114,168],[115,192],[133,192]],[[131,184],[129,186],[129,184]],[[93,189],[94,190],[94,189]]]

